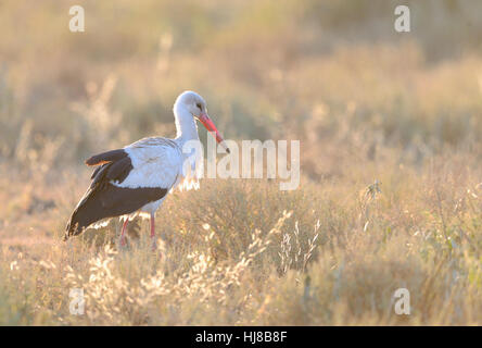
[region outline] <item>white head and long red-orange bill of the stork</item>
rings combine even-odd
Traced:
[[[207,105],[203,97],[192,90],[183,91],[179,95],[179,97],[177,97],[174,104],[175,109],[178,107],[185,108],[194,119],[198,119],[204,125],[204,127],[214,135],[216,141],[220,144],[229,153],[229,148],[225,144],[225,140],[207,114]]]

